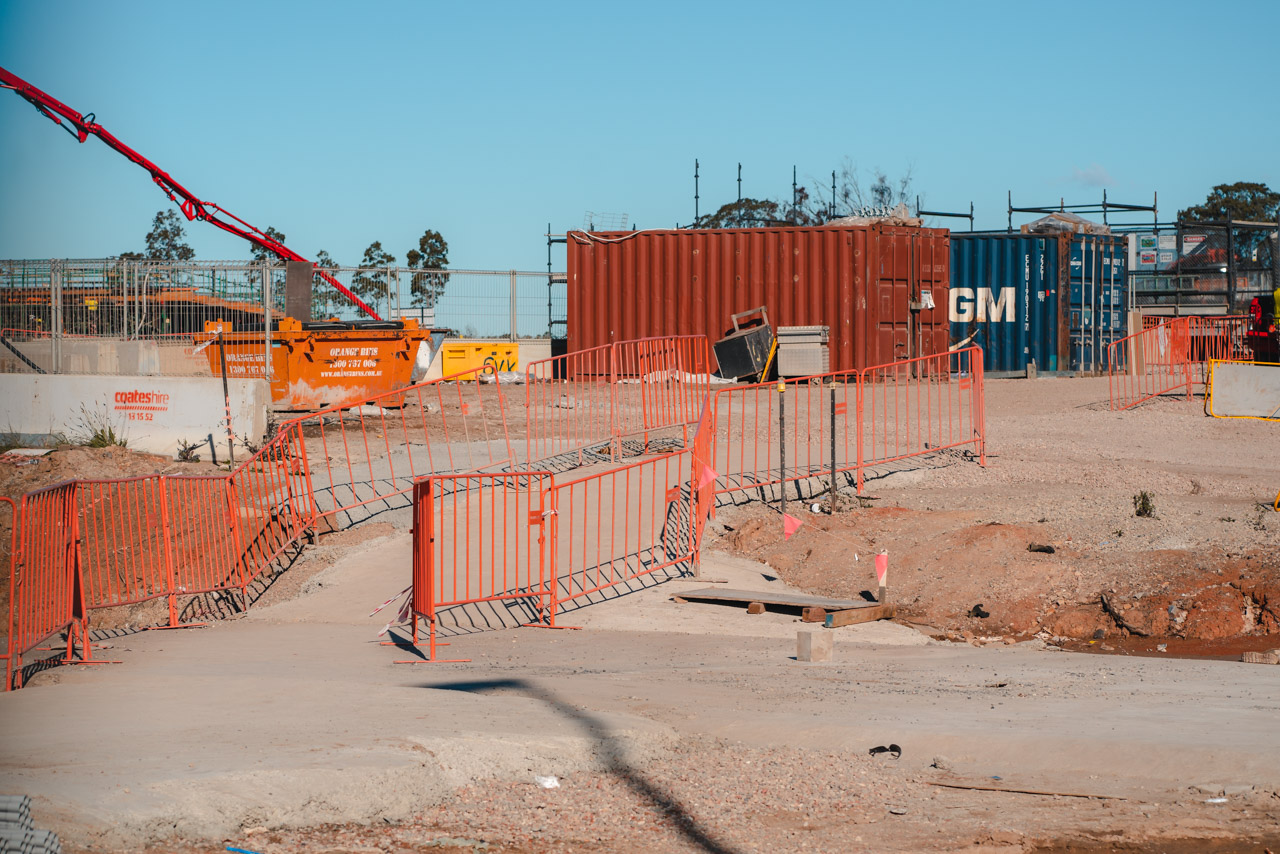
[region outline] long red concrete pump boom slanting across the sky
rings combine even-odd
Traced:
[[[14,93],[17,93],[19,97],[31,101],[31,104],[35,105],[35,108],[40,110],[40,113],[52,119],[58,127],[70,133],[79,142],[84,142],[86,140],[88,140],[90,134],[96,136],[108,146],[123,154],[125,157],[128,157],[133,163],[138,164],[140,166],[150,172],[151,181],[156,182],[156,184],[160,187],[160,189],[164,191],[165,196],[168,196],[170,201],[178,202],[183,215],[188,220],[198,219],[210,223],[212,225],[216,225],[224,232],[230,232],[237,237],[243,237],[246,241],[256,243],[257,246],[261,246],[262,248],[274,252],[289,261],[307,260],[301,255],[298,255],[297,252],[294,252],[293,250],[291,250],[284,243],[280,243],[279,241],[273,241],[265,233],[262,233],[253,225],[250,225],[248,223],[246,223],[243,219],[230,213],[229,210],[220,207],[214,202],[201,201],[200,198],[197,198],[195,193],[192,193],[189,189],[187,189],[177,181],[174,181],[172,177],[169,177],[168,172],[165,172],[164,169],[151,163],[141,154],[131,149],[129,146],[116,140],[110,131],[108,131],[106,128],[104,128],[101,124],[97,123],[96,120],[97,117],[95,117],[92,113],[90,113],[88,115],[81,115],[79,113],[67,106],[58,99],[52,97],[47,92],[36,88],[27,81],[22,79],[17,74],[13,74],[4,68],[0,68],[0,88],[13,90]],[[72,131],[72,128],[63,124],[63,119],[65,119],[76,129]],[[338,293],[343,294],[353,303],[356,303],[356,306],[366,315],[369,315],[374,320],[381,320],[381,318],[379,318],[372,309],[365,305],[365,302],[355,293],[343,287],[343,284],[338,282],[338,279],[333,278],[323,269],[317,269],[316,273],[320,274],[321,279],[332,284],[338,291]]]

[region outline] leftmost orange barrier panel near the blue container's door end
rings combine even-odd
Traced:
[[[1192,318],[1175,318],[1108,346],[1107,385],[1112,410],[1126,410],[1161,394],[1190,397]]]

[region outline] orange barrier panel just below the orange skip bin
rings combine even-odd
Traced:
[[[293,421],[317,519],[353,524],[407,506],[413,479],[512,461],[502,387],[489,365]]]

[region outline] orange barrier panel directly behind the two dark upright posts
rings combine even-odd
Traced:
[[[858,379],[856,370],[832,371],[716,392],[716,492],[765,494],[768,487],[829,474],[832,461],[836,472],[855,471]]]

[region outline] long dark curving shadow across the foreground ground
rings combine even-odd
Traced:
[[[556,711],[557,714],[572,721],[582,732],[593,739],[600,748],[600,754],[605,758],[605,771],[625,782],[631,791],[645,800],[675,830],[704,851],[712,854],[736,854],[735,849],[713,839],[710,832],[689,813],[675,795],[662,786],[649,781],[643,773],[634,768],[623,757],[622,745],[618,739],[609,732],[608,726],[576,705],[566,703],[556,694],[522,679],[493,679],[463,682],[425,682],[419,688],[430,688],[442,691],[465,691],[467,694],[486,694],[490,691],[516,693],[530,699],[540,700]]]

